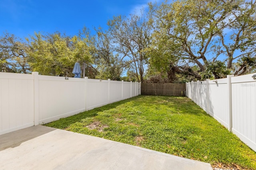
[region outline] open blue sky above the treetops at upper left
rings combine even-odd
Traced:
[[[24,39],[34,32],[76,35],[84,26],[106,28],[113,16],[128,16],[150,0],[0,0],[0,36]],[[155,0],[152,0],[155,2]]]

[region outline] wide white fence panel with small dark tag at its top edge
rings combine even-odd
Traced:
[[[85,82],[80,78],[39,75],[39,123],[85,111]]]

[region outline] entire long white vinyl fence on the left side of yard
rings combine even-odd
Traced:
[[[138,82],[0,72],[0,135],[138,95]]]

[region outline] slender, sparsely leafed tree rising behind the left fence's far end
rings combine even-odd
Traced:
[[[148,21],[142,10],[130,17],[114,17],[108,21],[115,51],[125,62],[124,67],[134,72],[138,82],[143,82],[147,59],[146,48],[150,43],[152,22]]]

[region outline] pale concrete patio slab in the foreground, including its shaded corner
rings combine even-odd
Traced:
[[[1,170],[212,170],[210,164],[42,125],[0,135]]]

